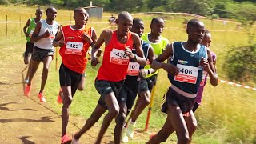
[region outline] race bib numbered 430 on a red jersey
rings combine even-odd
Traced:
[[[124,50],[113,49],[110,52],[110,62],[117,65],[128,65],[129,57]]]

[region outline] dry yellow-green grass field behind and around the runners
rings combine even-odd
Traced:
[[[34,17],[34,10],[36,7],[18,6],[18,9],[14,9],[10,6],[0,6],[2,12],[0,14],[0,21],[6,21],[6,14],[8,21],[14,21],[18,23],[8,23],[7,25],[7,38],[6,38],[6,23],[0,23],[0,41],[2,54],[6,54],[8,46],[17,46],[17,50],[10,51],[11,60],[12,53],[19,53],[22,55],[25,50],[26,40],[24,34],[22,34],[22,27],[25,25],[26,20],[30,17]],[[104,16],[110,16],[109,13],[104,13]],[[158,15],[144,15],[136,14],[134,18],[142,18],[145,22],[145,32],[150,32],[149,25],[150,20]],[[184,18],[190,19],[191,17],[182,17],[179,15],[164,15],[166,18],[166,29],[162,35],[170,40],[174,41],[186,41],[186,30],[183,30],[182,22]],[[46,18],[46,17],[44,17]],[[62,25],[70,24],[72,20],[72,11],[70,10],[58,10],[58,16],[56,19]],[[94,26],[99,35],[103,29],[108,27],[107,23],[94,23],[94,22],[107,22],[107,17],[102,19],[90,18],[90,26]],[[236,24],[228,22],[223,25],[222,22],[211,21],[202,19],[213,36],[213,42],[210,47],[218,55],[218,78],[228,80],[222,65],[225,62],[227,51],[231,46],[244,46],[248,44],[248,37],[246,31],[236,30]],[[72,22],[71,22],[72,23]],[[221,31],[223,30],[223,31]],[[226,31],[225,31],[226,30]],[[252,28],[255,31],[255,27]],[[255,40],[255,39],[254,39]],[[55,57],[56,58],[56,57]],[[58,66],[61,62],[58,56]],[[6,60],[6,59],[5,59]],[[22,57],[21,57],[22,61]],[[2,62],[4,60],[2,59]],[[56,96],[59,90],[58,83],[58,70],[55,70],[56,61],[51,65],[49,79],[46,83],[46,99],[50,102],[52,109],[56,110],[60,114],[61,105],[56,102]],[[78,91],[74,96],[74,101],[70,108],[70,114],[79,115],[83,118],[89,118],[90,114],[94,110],[98,102],[99,95],[94,88],[94,78],[98,72],[98,67],[91,67],[88,63],[86,68],[86,89],[82,92]],[[39,86],[39,82],[34,83]],[[249,86],[256,87],[253,82],[245,82]],[[156,87],[154,106],[152,115],[150,117],[150,129],[149,132],[157,132],[163,122],[166,120],[166,114],[160,112],[160,106],[162,102],[162,95],[166,89],[170,86],[170,82],[166,77],[166,72],[160,70],[158,84]],[[39,90],[39,88],[38,88]],[[202,106],[199,107],[196,112],[198,119],[198,130],[194,134],[193,143],[256,143],[256,91],[247,90],[240,87],[230,86],[227,84],[219,83],[217,87],[206,85]],[[102,119],[98,122],[101,125]],[[146,122],[146,111],[138,118],[138,129],[144,129]],[[108,132],[113,132],[114,122],[110,126]],[[112,131],[111,131],[112,130]],[[136,137],[136,135],[135,135]],[[149,138],[149,134],[141,134],[130,143],[143,143]],[[175,134],[168,139],[166,143],[175,143]]]

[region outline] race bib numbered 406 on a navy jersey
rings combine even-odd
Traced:
[[[198,78],[198,67],[185,66],[177,64],[179,73],[175,75],[174,80],[178,82],[193,83],[197,82]]]

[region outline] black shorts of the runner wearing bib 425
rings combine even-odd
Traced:
[[[72,97],[78,89],[78,84],[81,81],[82,74],[70,70],[62,63],[59,67],[59,83],[61,86],[71,86]]]

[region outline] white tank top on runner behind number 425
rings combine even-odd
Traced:
[[[53,41],[55,38],[56,33],[58,32],[58,22],[54,21],[52,25],[48,25],[46,20],[41,20],[41,29],[38,36],[41,36],[46,32],[49,31],[50,36],[48,38],[42,38],[38,42],[34,42],[34,46],[37,46],[40,49],[45,50],[54,50]]]

